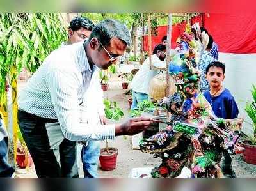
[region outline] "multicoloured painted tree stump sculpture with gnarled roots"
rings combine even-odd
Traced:
[[[221,157],[234,154],[243,119],[217,118],[209,102],[198,94],[200,47],[189,25],[177,43],[180,53],[168,68],[177,92],[162,101],[171,113],[170,121],[158,134],[141,139],[140,149],[162,159],[152,169],[152,177],[177,177],[183,167],[191,169],[192,178],[220,177]],[[188,100],[193,102],[189,104]],[[225,165],[228,169],[231,163]],[[221,170],[226,176],[234,177],[225,169]]]

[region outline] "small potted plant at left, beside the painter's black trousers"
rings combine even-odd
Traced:
[[[18,167],[21,169],[31,167],[33,165],[33,160],[29,154],[26,143],[22,137],[20,130],[18,130],[18,141],[17,141],[17,153],[16,153],[16,162]]]

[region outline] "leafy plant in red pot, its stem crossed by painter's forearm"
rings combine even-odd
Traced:
[[[117,106],[116,102],[104,100],[106,118],[118,121],[124,116],[124,112]],[[118,149],[109,147],[106,140],[106,148],[100,149],[100,165],[104,171],[111,171],[116,168]]]

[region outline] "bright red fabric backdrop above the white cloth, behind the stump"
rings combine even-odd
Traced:
[[[212,35],[219,52],[256,53],[256,19],[253,13],[217,14],[207,13],[191,19],[191,23],[200,22]],[[167,26],[159,27],[158,36],[152,36],[152,50],[161,43],[167,33]],[[172,26],[172,48],[179,34],[184,31],[184,23]],[[148,36],[145,36],[144,50],[148,50]]]

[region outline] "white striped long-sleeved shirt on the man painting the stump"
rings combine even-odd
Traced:
[[[71,141],[114,139],[115,125],[92,125],[80,121],[81,104],[94,70],[90,68],[84,42],[63,46],[44,63],[20,91],[19,108],[42,118],[58,119],[63,135]]]

